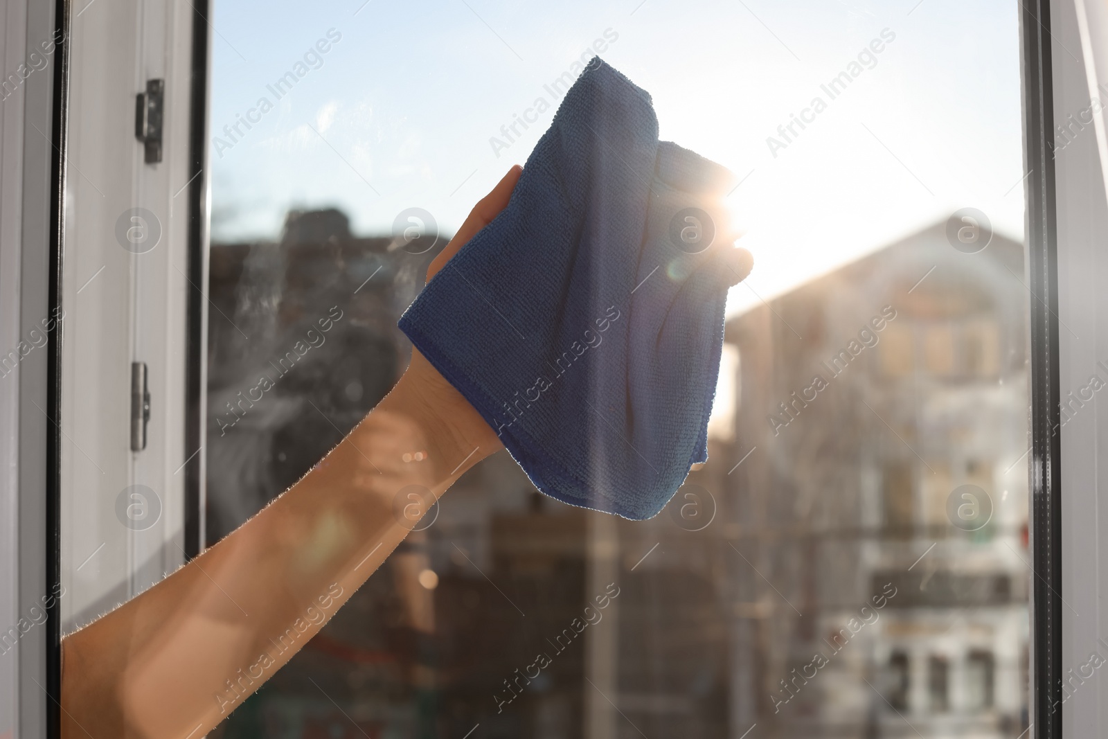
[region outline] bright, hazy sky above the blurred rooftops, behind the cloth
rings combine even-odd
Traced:
[[[289,207],[339,207],[371,235],[417,206],[452,233],[550,124],[544,85],[606,31],[601,55],[653,95],[661,137],[746,177],[729,203],[756,267],[730,314],[962,207],[1023,238],[1014,1],[362,2],[215,3],[215,240],[275,238]],[[267,85],[330,29],[277,100]],[[831,99],[821,84],[874,40]],[[275,107],[249,113],[263,96]],[[538,97],[550,110],[494,152]],[[260,122],[232,142],[223,126],[247,114]]]

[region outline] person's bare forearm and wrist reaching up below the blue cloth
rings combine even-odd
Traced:
[[[63,639],[63,737],[202,737],[403,540],[403,513],[418,509],[404,511],[399,491],[439,496],[495,451],[494,438],[465,431],[482,424],[443,421],[437,396],[451,389],[411,374],[250,521]]]

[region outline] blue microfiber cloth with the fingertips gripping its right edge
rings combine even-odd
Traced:
[[[648,519],[707,460],[727,288],[750,269],[711,248],[730,184],[659,143],[650,96],[596,58],[507,207],[400,318],[543,493]]]

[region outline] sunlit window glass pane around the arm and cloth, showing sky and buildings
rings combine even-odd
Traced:
[[[397,380],[430,259],[583,55],[736,173],[756,258],[709,461],[661,514],[564,505],[499,453],[216,736],[1022,735],[1016,3],[216,1],[211,20],[209,543]]]

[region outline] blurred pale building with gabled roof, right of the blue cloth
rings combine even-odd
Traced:
[[[964,254],[937,224],[728,322],[717,452],[749,456],[705,484],[759,573],[731,664],[772,736],[1026,728],[1023,273],[1019,244]]]

